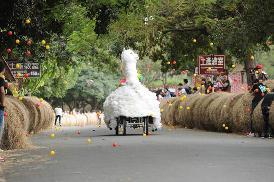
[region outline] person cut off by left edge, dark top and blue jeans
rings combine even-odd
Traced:
[[[6,90],[7,90],[7,85],[5,83],[5,79],[2,78],[2,75],[5,73],[5,63],[0,62],[0,141],[1,141],[1,136],[2,136],[2,130],[4,126],[4,111],[5,111],[5,95],[6,95]],[[0,149],[0,152],[3,152],[2,149]],[[0,157],[0,162],[5,161],[6,159]]]

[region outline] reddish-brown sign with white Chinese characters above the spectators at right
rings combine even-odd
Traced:
[[[199,75],[218,75],[225,69],[225,55],[198,55]]]

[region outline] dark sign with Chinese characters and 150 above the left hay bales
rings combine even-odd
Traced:
[[[17,73],[21,73],[21,77],[24,74],[28,74],[29,78],[40,78],[41,77],[41,65],[36,62],[29,62],[23,64],[21,62],[7,62],[12,74],[15,78],[18,78]],[[16,68],[16,64],[19,65],[19,68]]]

